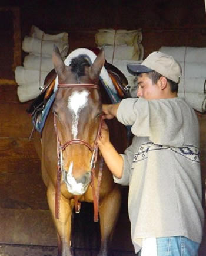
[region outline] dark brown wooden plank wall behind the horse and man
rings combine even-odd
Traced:
[[[25,55],[21,51],[24,36],[29,34],[31,25],[46,33],[67,31],[69,51],[72,51],[78,47],[95,47],[94,35],[98,28],[142,28],[144,58],[161,46],[206,47],[204,0],[31,0],[16,1],[13,6],[14,2],[1,1],[0,8],[3,14],[0,25],[0,243],[56,245],[46,189],[41,179],[41,164],[32,141],[29,141],[32,129],[30,116],[26,114],[29,102],[19,103],[14,80],[15,66],[22,65]],[[199,114],[198,119],[205,195],[206,115]],[[127,188],[122,187],[122,192],[124,199],[113,248],[131,254]],[[205,196],[203,203],[205,205]],[[87,212],[89,207],[85,205],[83,209]],[[83,225],[81,216],[74,218],[77,225]],[[91,225],[98,234],[98,227]],[[86,227],[82,236],[87,236]],[[74,246],[95,249],[97,240],[98,236],[94,241],[88,237],[79,238],[74,241]],[[205,250],[204,236],[200,256]]]

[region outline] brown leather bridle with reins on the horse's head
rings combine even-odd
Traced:
[[[59,88],[94,88],[99,90],[99,86],[92,84],[92,83],[59,83],[57,86],[57,89]],[[94,141],[94,145],[92,146],[87,141],[81,140],[81,139],[73,139],[70,141],[65,142],[63,145],[61,145],[61,142],[59,141],[58,136],[58,129],[57,129],[57,122],[54,115],[54,128],[55,128],[55,134],[57,135],[57,182],[56,182],[56,193],[55,193],[55,217],[59,218],[59,203],[60,203],[60,183],[61,183],[61,175],[62,179],[64,180],[63,176],[63,151],[69,146],[73,144],[81,144],[87,147],[91,153],[91,161],[90,161],[90,171],[91,171],[91,186],[92,186],[92,193],[93,193],[93,200],[94,200],[94,221],[98,221],[98,197],[99,197],[99,187],[101,183],[101,176],[102,176],[102,167],[99,168],[99,176],[98,176],[98,187],[97,192],[95,192],[95,186],[94,186],[94,178],[95,178],[95,164],[97,162],[98,157],[98,139],[101,132],[102,127],[102,115],[99,116],[99,127],[97,131],[97,136]],[[100,165],[102,166],[102,164]],[[80,210],[80,203],[77,200],[77,195],[74,195],[74,201],[75,201],[75,211],[76,213],[79,213]]]

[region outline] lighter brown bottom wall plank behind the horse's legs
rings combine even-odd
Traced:
[[[91,217],[93,217],[93,215]],[[0,218],[0,243],[2,244],[46,246],[57,245],[54,224],[48,210],[22,210],[0,208]],[[122,216],[122,218],[127,219],[124,218],[124,216]],[[97,238],[95,238],[96,233],[93,233],[91,235],[88,235],[88,233],[85,234],[85,231],[87,231],[87,229],[89,228],[92,228],[92,226],[91,223],[85,221],[85,219],[84,223],[85,225],[81,226],[81,229],[79,229],[78,232],[75,232],[76,235],[81,235],[81,233],[84,232],[84,242],[83,244],[73,244],[72,248],[74,248],[77,252],[88,250],[97,251],[97,247],[90,246],[92,242],[97,242],[96,239],[99,239],[100,237],[98,236]],[[93,224],[97,225],[98,223],[93,222]],[[124,222],[122,225],[122,222],[119,222],[119,224],[121,224],[121,233],[118,233],[118,231],[116,234],[114,234],[114,236],[116,236],[116,241],[118,241],[118,244],[112,246],[112,251],[128,251],[128,253],[134,251],[131,242],[129,243],[130,246],[128,246],[127,242],[128,237],[130,237],[130,226],[128,225],[129,223]],[[84,229],[85,226],[87,226],[86,230]],[[4,232],[5,230],[6,232]],[[125,232],[125,230],[128,232]],[[121,236],[119,236],[119,234],[121,234]],[[78,236],[75,236],[74,239],[76,239],[76,241],[79,241]],[[124,245],[122,245],[122,242],[124,243]]]

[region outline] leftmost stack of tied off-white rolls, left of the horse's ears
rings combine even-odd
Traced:
[[[15,69],[20,102],[34,99],[41,92],[39,88],[44,85],[45,77],[54,69],[52,64],[54,44],[65,58],[69,48],[68,33],[46,34],[33,25],[29,36],[24,38],[22,50],[29,54],[25,56],[23,66],[18,66]]]

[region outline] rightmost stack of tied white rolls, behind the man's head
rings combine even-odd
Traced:
[[[181,65],[178,96],[184,97],[195,110],[206,112],[206,48],[162,46],[160,51],[173,56]]]

